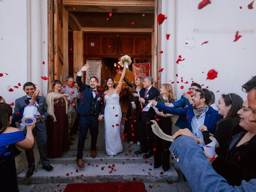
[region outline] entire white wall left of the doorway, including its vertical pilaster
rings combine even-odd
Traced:
[[[40,76],[48,76],[47,0],[0,1],[0,26],[0,73],[9,74],[0,77],[0,96],[14,102],[24,92],[13,86],[28,81],[46,96],[47,81]]]

